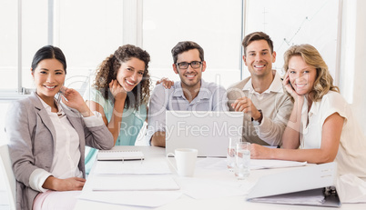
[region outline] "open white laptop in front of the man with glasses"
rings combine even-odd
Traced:
[[[241,112],[167,111],[166,153],[196,148],[198,156],[226,157],[229,137],[240,137]]]

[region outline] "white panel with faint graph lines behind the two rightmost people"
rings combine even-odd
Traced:
[[[263,31],[277,53],[274,69],[281,70],[283,54],[291,45],[315,46],[335,78],[337,68],[339,2],[334,0],[248,0],[246,35]],[[244,70],[244,75],[249,75]]]

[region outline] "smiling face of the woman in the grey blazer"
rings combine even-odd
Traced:
[[[47,104],[53,103],[55,95],[65,82],[64,66],[57,59],[44,59],[32,69],[36,93]]]

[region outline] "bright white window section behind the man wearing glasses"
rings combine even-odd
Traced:
[[[194,41],[205,52],[205,81],[225,87],[239,81],[241,4],[241,0],[144,1],[143,47],[151,55],[152,79],[165,76],[177,81],[170,51],[180,41]]]

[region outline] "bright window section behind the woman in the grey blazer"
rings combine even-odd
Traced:
[[[6,33],[0,35],[0,45],[6,49],[0,53],[5,58],[0,60],[3,93],[34,88],[30,65],[44,45],[63,50],[66,85],[74,88],[87,82],[97,65],[123,45],[123,1],[6,0],[0,8],[0,17],[6,20],[2,21]]]

